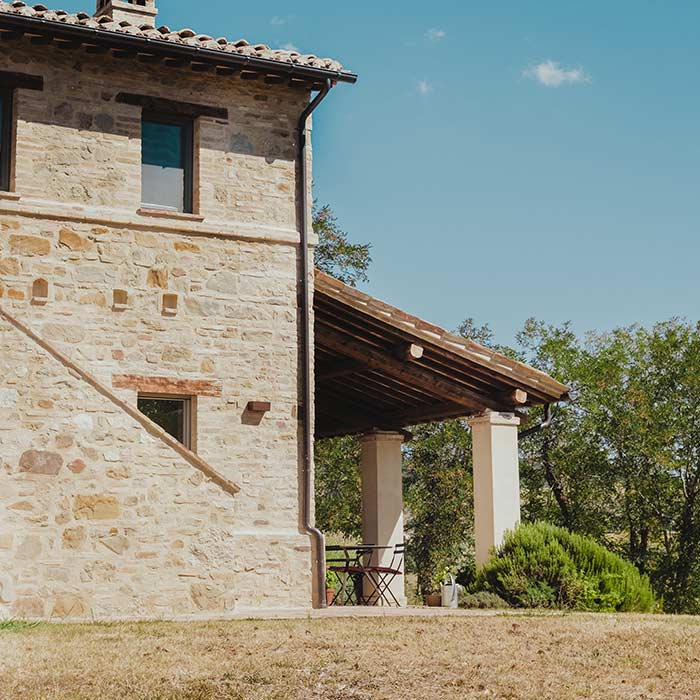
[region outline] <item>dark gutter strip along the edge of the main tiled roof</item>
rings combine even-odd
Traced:
[[[328,79],[350,84],[357,82],[357,75],[348,71],[314,68],[269,58],[216,51],[206,47],[176,44],[151,37],[120,34],[76,24],[64,24],[41,17],[0,13],[0,32],[32,33],[37,36],[50,36],[78,42],[81,45],[106,46],[109,49],[134,51],[162,58],[185,58],[197,63],[208,63],[212,66],[233,67],[265,75],[287,76],[290,79],[307,80],[313,83]]]

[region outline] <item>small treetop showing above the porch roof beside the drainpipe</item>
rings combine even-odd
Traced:
[[[314,233],[318,236],[316,267],[352,287],[367,281],[371,246],[351,243],[328,205],[314,207]]]

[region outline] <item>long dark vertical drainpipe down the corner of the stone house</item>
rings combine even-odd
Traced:
[[[302,381],[302,421],[303,439],[303,478],[301,490],[302,527],[311,538],[313,557],[313,576],[316,580],[318,599],[314,601],[318,608],[328,607],[326,603],[326,548],[323,533],[313,525],[311,499],[313,491],[314,435],[312,430],[313,386],[311,384],[311,357],[313,355],[313,335],[311,333],[311,289],[309,277],[312,269],[309,264],[309,167],[307,163],[306,122],[331,91],[333,83],[326,80],[323,89],[309,103],[299,117],[299,164],[301,173],[301,381]]]

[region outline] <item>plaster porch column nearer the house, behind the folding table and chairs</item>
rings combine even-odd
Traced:
[[[394,546],[404,541],[403,477],[401,445],[404,436],[395,432],[373,432],[360,439],[362,445],[362,539],[390,549],[379,550],[372,563],[389,566]],[[395,562],[395,564],[398,562]],[[401,560],[403,573],[403,560]],[[401,605],[406,604],[404,577],[397,576],[391,590]],[[365,594],[372,589],[366,588]]]

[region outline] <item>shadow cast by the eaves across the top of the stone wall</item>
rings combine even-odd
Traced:
[[[0,49],[0,61],[21,64],[22,72],[44,77],[43,91],[34,93],[31,102],[25,98],[27,102],[23,104],[22,112],[26,111],[31,121],[94,134],[137,138],[142,108],[117,99],[118,94],[133,91],[163,102],[228,110],[228,120],[204,117],[206,129],[202,136],[210,150],[259,156],[268,164],[278,160],[291,162],[296,158],[294,124],[308,99],[304,91],[230,76],[197,75],[195,80],[178,69],[141,64],[138,64],[138,75],[132,77],[128,69],[136,64],[131,59],[93,57],[80,50],[61,54],[46,49],[46,53],[37,54],[37,48],[28,43],[26,46],[17,43],[16,48],[26,50],[27,54],[22,50],[7,54]],[[27,60],[29,53],[39,61]],[[47,63],[50,64],[48,69]],[[76,89],[70,95],[63,87],[67,73],[76,74]],[[95,85],[98,75],[99,91]],[[104,86],[109,87],[105,89]],[[286,120],[280,119],[285,115],[289,117],[288,125]],[[221,132],[222,126],[229,127],[226,133]],[[235,133],[231,133],[234,129]]]

